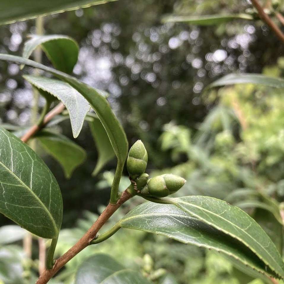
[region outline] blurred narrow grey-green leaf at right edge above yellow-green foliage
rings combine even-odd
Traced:
[[[229,74],[211,83],[208,87],[212,88],[233,84],[256,84],[284,88],[284,79],[268,77],[261,74]]]

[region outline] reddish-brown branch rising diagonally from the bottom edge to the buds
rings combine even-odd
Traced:
[[[84,236],[76,242],[76,244],[70,248],[66,253],[63,254],[59,259],[56,260],[55,265],[51,270],[44,270],[42,275],[36,281],[36,284],[46,284],[59,269],[61,269],[70,259],[76,254],[86,248],[90,241],[95,238],[99,229],[106,223],[106,221],[112,216],[112,214],[128,199],[132,196],[125,190],[122,192],[117,204],[110,204],[106,207],[103,213],[99,216],[97,221],[91,226],[91,228],[84,234]]]

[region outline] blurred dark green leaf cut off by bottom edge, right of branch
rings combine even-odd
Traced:
[[[127,269],[102,253],[86,259],[75,276],[75,284],[150,284],[139,272]]]

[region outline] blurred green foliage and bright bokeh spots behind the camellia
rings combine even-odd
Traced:
[[[249,8],[245,0],[120,0],[47,16],[44,29],[45,34],[66,34],[79,42],[75,75],[110,93],[109,101],[130,144],[137,139],[145,143],[150,175],[172,172],[186,178],[177,196],[206,195],[239,206],[263,226],[282,252],[278,208],[284,202],[283,90],[251,84],[219,90],[205,87],[232,72],[283,76],[283,44],[260,20],[208,27],[161,23],[169,13],[210,15]],[[28,20],[1,26],[0,52],[21,55],[28,34],[35,33],[34,24]],[[50,64],[45,57],[43,62]],[[31,86],[17,65],[0,62],[0,69],[1,123],[27,127]],[[43,103],[40,100],[39,106]],[[73,139],[68,121],[58,130]],[[87,151],[87,161],[69,180],[52,158],[44,157],[63,195],[58,255],[82,236],[107,204],[115,167],[114,160],[103,173],[91,176],[97,152],[87,123],[76,143]],[[123,177],[121,189],[128,183]],[[134,198],[107,226],[140,202]],[[3,216],[0,221],[10,224]],[[22,249],[24,236],[19,235],[9,244],[0,242],[0,283],[36,279],[36,240],[35,261],[31,261]],[[119,262],[142,271],[154,283],[262,283],[213,252],[127,229],[81,252],[51,283],[71,284],[75,268],[86,256],[107,253],[110,247]]]

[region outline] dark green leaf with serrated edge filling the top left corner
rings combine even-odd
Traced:
[[[0,25],[86,8],[115,0],[1,0]]]

